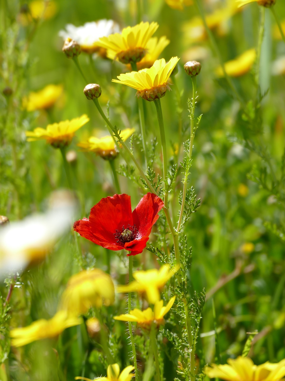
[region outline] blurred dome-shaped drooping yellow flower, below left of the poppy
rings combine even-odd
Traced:
[[[90,307],[114,303],[114,284],[110,275],[100,269],[85,270],[73,275],[62,295],[60,309],[68,314],[86,314]]]

